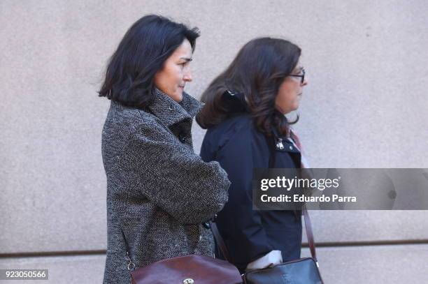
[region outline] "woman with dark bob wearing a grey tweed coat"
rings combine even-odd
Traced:
[[[206,222],[227,202],[217,162],[194,154],[201,104],[183,89],[199,32],[165,17],[135,22],[111,57],[99,96],[111,100],[102,133],[108,247],[104,283],[190,254],[213,256]]]

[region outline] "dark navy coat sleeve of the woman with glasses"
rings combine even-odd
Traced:
[[[220,140],[219,145],[215,160],[226,170],[231,186],[229,202],[218,214],[217,224],[234,264],[246,267],[274,250],[266,236],[262,215],[252,209],[252,171],[255,167],[268,167],[266,153],[269,152],[262,133],[251,130],[251,126],[239,128],[227,142]],[[201,156],[207,158],[210,150],[203,149],[205,153]]]

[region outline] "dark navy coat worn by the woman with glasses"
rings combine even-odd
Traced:
[[[285,139],[283,151],[276,150],[275,167],[300,167],[300,152],[289,143]],[[252,169],[269,167],[268,147],[264,134],[245,112],[209,128],[201,147],[201,157],[206,162],[218,161],[231,181],[229,202],[216,222],[230,261],[241,272],[273,250],[282,252],[284,262],[300,257],[300,211],[252,210]]]

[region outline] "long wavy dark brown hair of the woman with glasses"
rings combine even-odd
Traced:
[[[211,128],[229,118],[234,111],[224,100],[224,92],[232,91],[245,96],[257,130],[271,135],[274,128],[286,134],[290,124],[276,110],[275,99],[280,84],[296,68],[301,49],[294,43],[280,38],[255,38],[246,43],[234,61],[208,86],[201,96],[205,103],[197,114],[201,128]]]

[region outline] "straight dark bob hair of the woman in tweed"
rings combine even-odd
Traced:
[[[106,78],[99,90],[123,105],[145,108],[152,100],[153,77],[185,38],[192,51],[199,37],[197,28],[166,17],[146,15],[125,33],[106,68]]]

